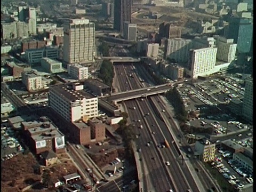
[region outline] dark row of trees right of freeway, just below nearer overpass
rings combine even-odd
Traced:
[[[180,122],[186,122],[187,121],[187,111],[185,110],[185,106],[183,104],[183,101],[180,97],[180,94],[176,87],[171,89],[166,93],[166,98],[170,101],[172,104],[176,118]]]

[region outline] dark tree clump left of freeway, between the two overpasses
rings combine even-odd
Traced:
[[[102,79],[105,84],[112,86],[114,78],[114,67],[110,61],[105,60],[102,62],[99,78]]]

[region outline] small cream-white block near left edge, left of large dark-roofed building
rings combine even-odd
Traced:
[[[22,73],[22,83],[26,86],[28,91],[37,91],[43,89],[42,77],[33,73]]]

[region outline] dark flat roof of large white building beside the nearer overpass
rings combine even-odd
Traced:
[[[92,99],[97,98],[93,95],[87,93],[84,90],[74,90],[73,89],[74,83],[66,83],[60,85],[54,85],[50,87],[50,90],[57,94],[61,94],[63,97],[67,98],[70,101],[76,101],[79,99]],[[98,99],[98,98],[97,98]]]

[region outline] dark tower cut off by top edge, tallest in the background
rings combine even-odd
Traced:
[[[123,32],[124,22],[131,22],[132,0],[115,0],[114,29]]]

